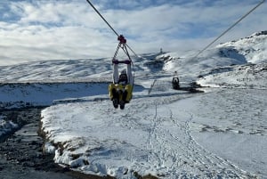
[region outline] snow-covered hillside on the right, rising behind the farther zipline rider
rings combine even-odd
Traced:
[[[182,81],[203,86],[263,88],[267,83],[267,31],[196,52],[165,53],[164,70],[177,71]]]

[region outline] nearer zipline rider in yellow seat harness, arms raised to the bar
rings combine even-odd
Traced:
[[[125,103],[132,99],[134,76],[132,73],[131,61],[117,61],[113,59],[113,83],[109,85],[109,98],[113,102],[114,108],[118,105],[120,109],[125,108]],[[118,74],[118,64],[126,64],[127,69],[123,69]]]

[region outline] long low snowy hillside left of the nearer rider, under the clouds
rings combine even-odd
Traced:
[[[0,82],[107,82],[111,70],[110,59],[35,61],[1,67]]]

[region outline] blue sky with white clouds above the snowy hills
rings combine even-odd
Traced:
[[[260,1],[91,0],[136,53],[201,50]],[[214,45],[267,29],[264,2]],[[112,57],[117,37],[86,0],[1,0],[0,65]]]

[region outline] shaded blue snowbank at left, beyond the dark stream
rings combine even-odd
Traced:
[[[15,83],[1,86],[0,106],[19,108],[23,105],[45,106],[63,98],[107,94],[108,83]],[[33,101],[34,99],[34,101]]]

